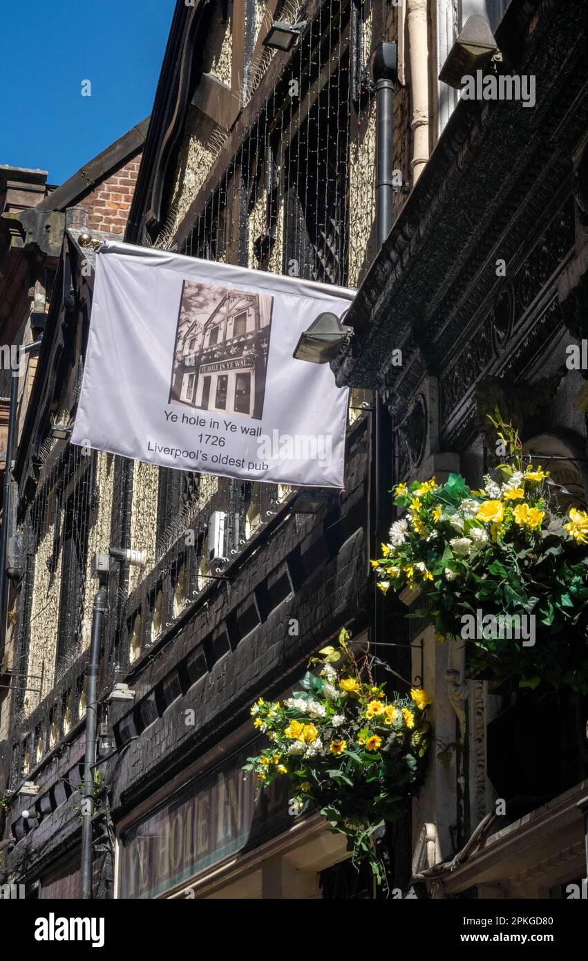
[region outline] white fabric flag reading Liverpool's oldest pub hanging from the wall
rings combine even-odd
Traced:
[[[108,241],[73,444],[243,480],[343,486],[348,390],[292,357],[354,291]]]

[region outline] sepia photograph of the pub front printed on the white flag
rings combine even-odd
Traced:
[[[261,418],[273,298],[184,281],[170,403]]]

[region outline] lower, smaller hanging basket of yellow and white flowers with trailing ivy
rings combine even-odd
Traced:
[[[388,700],[374,684],[365,655],[358,660],[349,634],[339,649],[325,648],[310,664],[300,691],[280,702],[260,698],[251,708],[254,725],[269,745],[248,758],[258,789],[287,776],[298,809],[312,801],[348,839],[354,860],[367,858],[379,883],[383,868],[372,843],[374,831],[404,811],[423,776],[430,741],[427,706],[421,688]],[[337,664],[337,667],[333,665]]]

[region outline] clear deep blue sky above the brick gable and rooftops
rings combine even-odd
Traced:
[[[48,170],[61,184],[146,117],[174,7],[2,0],[0,163]]]

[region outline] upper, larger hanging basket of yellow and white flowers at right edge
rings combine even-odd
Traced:
[[[586,694],[588,513],[559,510],[549,471],[525,468],[517,432],[498,411],[490,420],[509,454],[499,480],[486,476],[481,490],[457,474],[396,486],[407,513],[371,562],[379,587],[418,586],[429,607],[407,616],[439,641],[463,638],[471,677]]]

